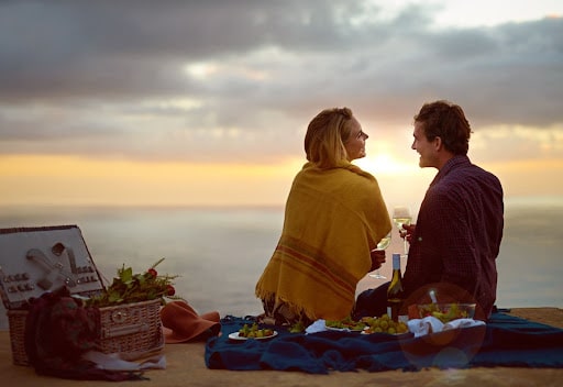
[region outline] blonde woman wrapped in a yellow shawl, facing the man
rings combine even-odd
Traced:
[[[391,229],[377,180],[351,164],[367,134],[347,108],[321,111],[305,136],[282,236],[256,284],[263,321],[308,325],[351,314],[356,285],[385,262],[371,253]]]

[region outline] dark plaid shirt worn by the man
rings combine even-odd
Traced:
[[[493,174],[455,156],[424,196],[404,276],[406,294],[432,283],[460,286],[489,316],[496,300],[504,228],[503,187]]]

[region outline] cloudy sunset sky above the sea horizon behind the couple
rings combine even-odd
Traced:
[[[563,1],[0,1],[0,204],[283,206],[349,107],[389,203],[460,104],[506,200],[563,198]]]

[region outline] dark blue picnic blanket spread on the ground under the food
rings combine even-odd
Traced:
[[[290,333],[274,327],[269,340],[233,341],[229,334],[252,320],[227,316],[222,335],[206,343],[206,365],[221,369],[419,371],[426,367],[563,367],[563,330],[506,313],[486,325],[415,338],[412,334],[322,331]]]

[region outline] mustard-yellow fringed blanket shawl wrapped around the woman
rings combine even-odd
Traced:
[[[307,163],[289,192],[278,245],[256,284],[310,319],[349,316],[369,252],[391,229],[375,177],[346,163],[319,169]]]

